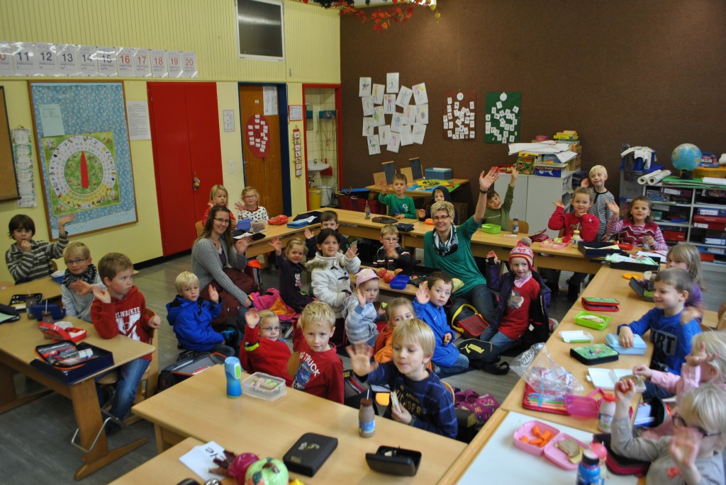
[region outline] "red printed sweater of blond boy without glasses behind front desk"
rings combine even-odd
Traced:
[[[314,396],[343,404],[343,361],[335,348],[314,352],[303,340],[300,342],[300,365],[293,387]]]

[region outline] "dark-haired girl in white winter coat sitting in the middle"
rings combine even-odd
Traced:
[[[338,238],[333,229],[323,229],[317,235],[318,252],[308,262],[313,296],[325,302],[335,312],[336,344],[343,342],[345,321],[342,318],[346,298],[351,296],[351,279],[348,273],[357,273],[361,260],[358,259],[358,247],[351,246],[346,254],[338,252]]]

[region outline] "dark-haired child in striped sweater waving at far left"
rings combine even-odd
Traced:
[[[36,224],[33,219],[24,214],[12,216],[8,223],[10,239],[15,244],[5,253],[5,262],[15,284],[45,278],[53,273],[50,260],[57,260],[63,255],[63,249],[68,244],[68,233],[65,225],[76,219],[75,214],[64,215],[58,218],[58,242],[33,241],[36,235]]]

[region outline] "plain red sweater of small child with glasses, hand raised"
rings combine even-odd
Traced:
[[[245,326],[245,342],[240,347],[240,362],[250,373],[264,372],[285,379],[291,386],[293,378],[287,375],[290,349],[284,341],[260,339],[259,327]]]

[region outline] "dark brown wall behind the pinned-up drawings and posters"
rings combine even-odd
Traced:
[[[623,143],[650,146],[669,168],[681,143],[726,152],[725,1],[439,0],[439,9],[438,24],[418,7],[380,34],[342,18],[345,186],[372,183],[391,159],[405,167],[419,156],[457,178],[513,163],[506,146],[484,143],[486,91],[521,91],[520,141],[577,130],[583,168],[605,165],[616,196]],[[400,72],[409,88],[426,83],[430,124],[423,145],[369,156],[358,79],[385,84],[386,72]],[[477,91],[474,141],[441,134],[444,91],[453,89]]]

